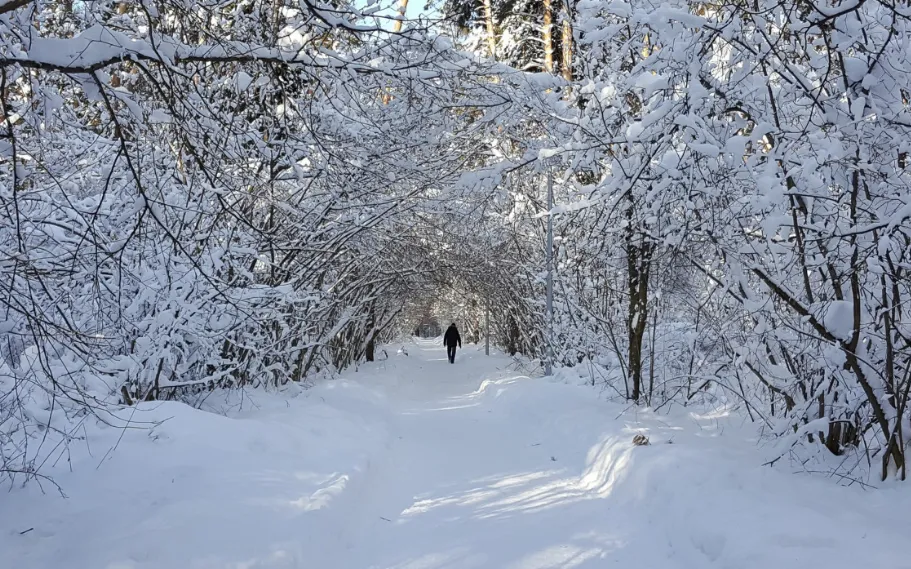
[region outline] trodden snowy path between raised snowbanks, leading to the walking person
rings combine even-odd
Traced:
[[[604,504],[592,498],[607,473],[593,473],[603,479],[589,488],[567,477],[599,432],[567,441],[559,427],[597,403],[582,393],[581,408],[548,409],[475,350],[453,366],[435,346],[411,355],[417,362],[389,388],[395,436],[371,470],[344,566],[573,567],[606,553],[613,538],[599,535]]]

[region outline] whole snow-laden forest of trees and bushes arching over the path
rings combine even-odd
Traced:
[[[0,474],[489,311],[616,401],[905,480],[906,2],[408,4],[0,0]]]

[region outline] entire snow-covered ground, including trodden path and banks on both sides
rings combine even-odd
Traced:
[[[907,488],[762,467],[748,430],[621,415],[474,346],[407,351],[230,418],[156,404],[151,434],[90,432],[53,471],[67,499],[0,495],[0,567],[911,568]]]

